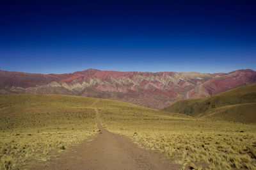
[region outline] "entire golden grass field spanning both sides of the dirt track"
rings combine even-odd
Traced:
[[[103,127],[183,168],[256,169],[256,125],[207,121],[138,105],[65,95],[0,95],[1,169],[58,157]],[[60,152],[60,153],[59,153]]]

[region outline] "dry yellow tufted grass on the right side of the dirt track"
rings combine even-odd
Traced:
[[[102,105],[104,105],[102,103]],[[127,105],[97,105],[104,127],[159,150],[185,168],[256,168],[256,125],[177,118]]]

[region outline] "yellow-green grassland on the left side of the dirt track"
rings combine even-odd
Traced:
[[[1,95],[0,169],[43,163],[96,134],[93,102],[62,95]]]

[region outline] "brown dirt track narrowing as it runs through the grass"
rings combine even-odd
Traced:
[[[179,169],[180,165],[170,164],[157,151],[138,148],[131,139],[113,134],[102,127],[95,109],[100,130],[93,141],[70,148],[60,158],[45,162],[35,169]]]

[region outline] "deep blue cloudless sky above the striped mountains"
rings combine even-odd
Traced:
[[[0,70],[256,70],[256,1],[0,0]]]

